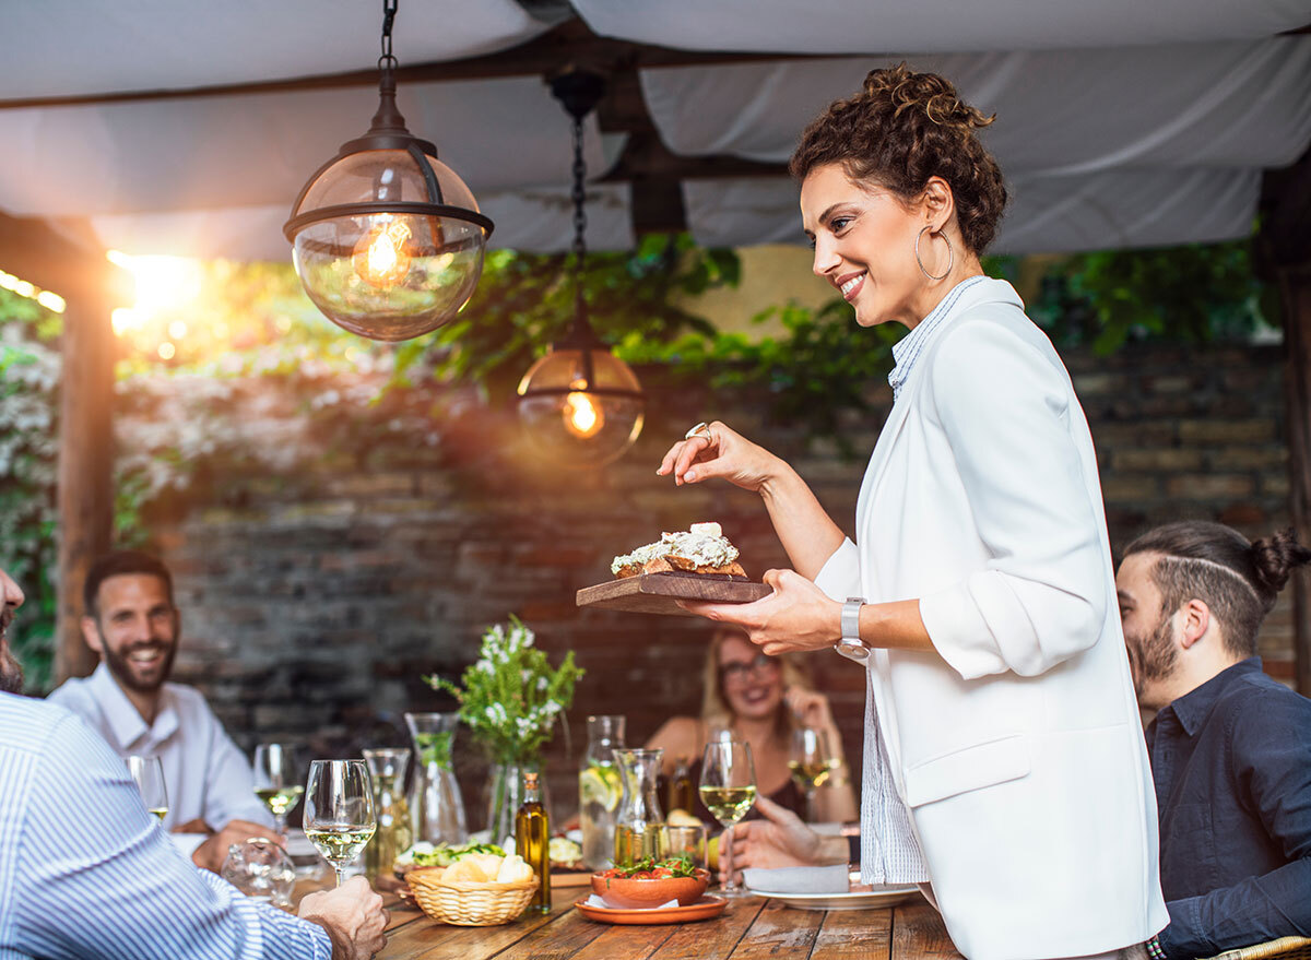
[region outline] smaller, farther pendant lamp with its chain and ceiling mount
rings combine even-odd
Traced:
[[[646,409],[637,376],[587,321],[583,298],[587,168],[582,121],[604,89],[604,80],[586,71],[564,73],[551,84],[551,92],[573,118],[574,317],[568,336],[552,344],[519,382],[519,421],[530,446],[568,467],[602,467],[619,458],[641,433]]]

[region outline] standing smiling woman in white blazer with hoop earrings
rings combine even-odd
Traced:
[[[1097,463],[1059,357],[979,265],[1006,203],[990,122],[901,66],[792,159],[814,271],[861,327],[910,328],[856,542],[721,422],[658,472],[759,492],[794,567],[763,601],[691,610],[864,664],[867,883],[927,883],[974,960],[1141,956],[1168,917]]]

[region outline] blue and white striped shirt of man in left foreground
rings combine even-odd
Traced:
[[[182,856],[87,724],[0,694],[0,960],[328,960],[326,931]]]

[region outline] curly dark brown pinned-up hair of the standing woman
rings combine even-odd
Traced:
[[[801,132],[788,169],[801,181],[815,167],[840,164],[852,180],[877,182],[907,203],[929,177],[941,177],[965,245],[982,253],[1007,199],[1002,169],[974,135],[995,117],[964,102],[937,73],[905,63],[872,70],[860,93],[834,101]]]

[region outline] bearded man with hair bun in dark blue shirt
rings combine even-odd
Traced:
[[[1311,935],[1311,700],[1261,671],[1256,637],[1293,568],[1293,531],[1256,543],[1185,521],[1139,536],[1116,574],[1160,814],[1169,926],[1154,956]]]

